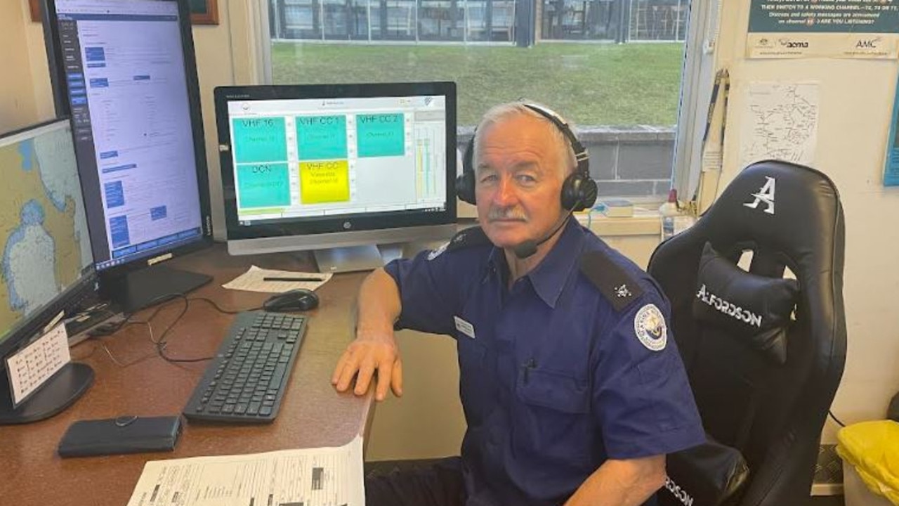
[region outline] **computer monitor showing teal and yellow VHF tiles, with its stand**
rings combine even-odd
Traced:
[[[360,270],[455,231],[454,83],[225,86],[215,104],[232,255]]]

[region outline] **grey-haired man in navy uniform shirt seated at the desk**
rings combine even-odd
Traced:
[[[460,459],[369,481],[369,506],[639,505],[663,486],[665,454],[705,441],[668,303],[563,207],[576,160],[540,111],[503,104],[478,126],[480,229],[360,288],[337,390],[357,376],[366,393],[377,372],[378,400],[401,395],[395,326],[449,334],[468,424]]]

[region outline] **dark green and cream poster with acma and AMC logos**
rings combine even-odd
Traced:
[[[899,58],[899,0],[752,0],[746,57]]]

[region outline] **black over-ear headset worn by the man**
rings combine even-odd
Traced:
[[[570,212],[591,208],[596,202],[598,188],[596,181],[590,177],[590,159],[587,149],[584,149],[583,144],[574,137],[574,132],[571,131],[568,123],[554,111],[539,104],[522,102],[521,105],[556,125],[556,128],[568,140],[571,149],[574,150],[577,168],[565,177],[565,182],[562,184],[562,207]],[[456,178],[456,194],[462,202],[475,203],[475,167],[472,167],[474,158],[475,135],[472,135],[465,149],[465,156],[462,158],[462,174]]]

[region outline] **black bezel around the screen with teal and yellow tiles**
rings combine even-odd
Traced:
[[[241,225],[237,219],[237,194],[234,168],[231,158],[231,129],[227,111],[228,102],[255,100],[329,99],[341,97],[421,96],[446,97],[446,196],[443,211],[401,211],[371,214],[338,215],[334,218],[316,217],[285,219],[274,222],[256,222]],[[371,230],[406,229],[412,227],[441,226],[457,221],[456,194],[456,83],[449,81],[406,83],[346,83],[328,85],[269,85],[269,86],[218,86],[215,89],[216,126],[218,152],[221,167],[222,194],[225,203],[227,239],[270,239],[290,236],[307,236],[312,239],[320,234],[352,234]],[[323,236],[323,240],[324,236]]]

